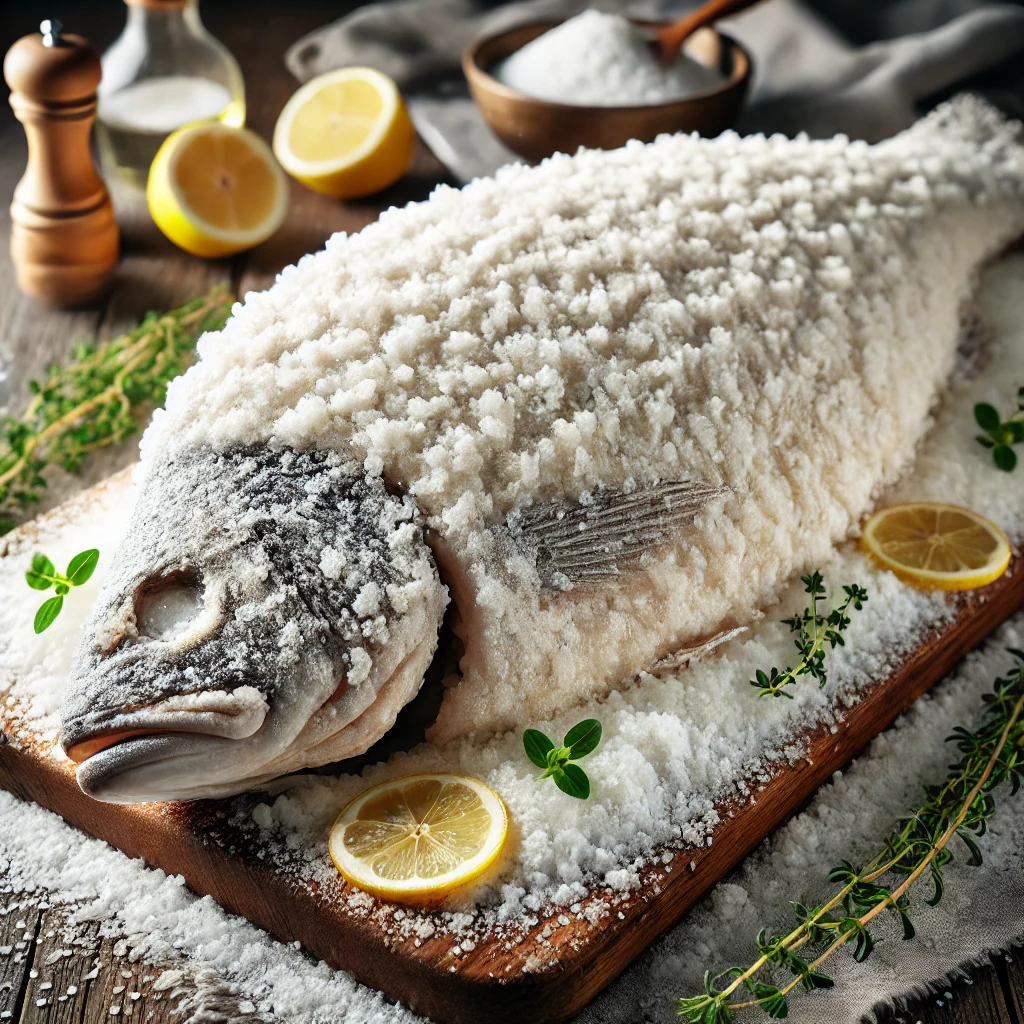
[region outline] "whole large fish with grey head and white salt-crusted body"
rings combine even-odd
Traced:
[[[912,460],[1022,231],[1020,128],[961,98],[877,146],[507,168],[335,237],[146,434],[63,709],[82,787],[221,796],[366,750],[449,601],[437,741],[749,622]]]

